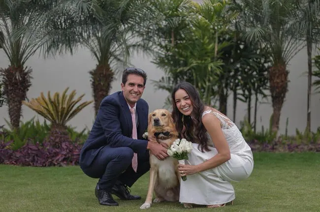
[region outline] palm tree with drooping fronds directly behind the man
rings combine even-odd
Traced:
[[[90,50],[96,60],[96,67],[89,74],[97,113],[101,100],[109,94],[117,66],[127,65],[133,51],[151,49],[150,42],[142,36],[155,18],[152,7],[148,0],[59,2],[45,14],[47,22],[41,27],[26,28],[24,33],[37,37],[55,29],[45,46],[47,54],[73,54],[80,46]],[[54,18],[49,20],[49,17]]]

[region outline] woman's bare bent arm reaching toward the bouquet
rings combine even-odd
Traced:
[[[202,172],[217,167],[228,161],[231,157],[228,143],[226,142],[224,133],[221,129],[220,120],[213,114],[207,114],[203,116],[202,123],[207,129],[218,153],[209,160],[197,165],[197,172]]]

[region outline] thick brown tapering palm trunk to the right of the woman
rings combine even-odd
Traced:
[[[288,91],[288,71],[284,63],[278,63],[270,68],[269,74],[273,108],[272,131],[278,132],[281,109]]]

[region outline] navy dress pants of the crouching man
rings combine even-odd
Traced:
[[[149,150],[137,152],[138,169],[134,172],[131,166],[133,151],[129,147],[112,148],[105,146],[100,149],[90,167],[83,169],[92,178],[99,178],[98,186],[111,191],[113,185],[120,181],[131,187],[150,169]]]

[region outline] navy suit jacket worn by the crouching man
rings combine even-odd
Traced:
[[[148,127],[148,112],[148,103],[140,98],[136,103],[139,140],[132,139],[131,113],[123,92],[118,91],[106,96],[100,104],[89,137],[81,149],[80,166],[89,167],[97,153],[106,145],[111,148],[129,147],[134,152],[146,151],[148,141],[141,139]]]

